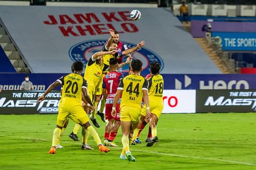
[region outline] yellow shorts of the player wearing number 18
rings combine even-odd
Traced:
[[[163,102],[150,101],[150,112],[155,114],[157,118],[160,117],[163,111]],[[146,116],[146,104],[142,106],[141,115]]]

